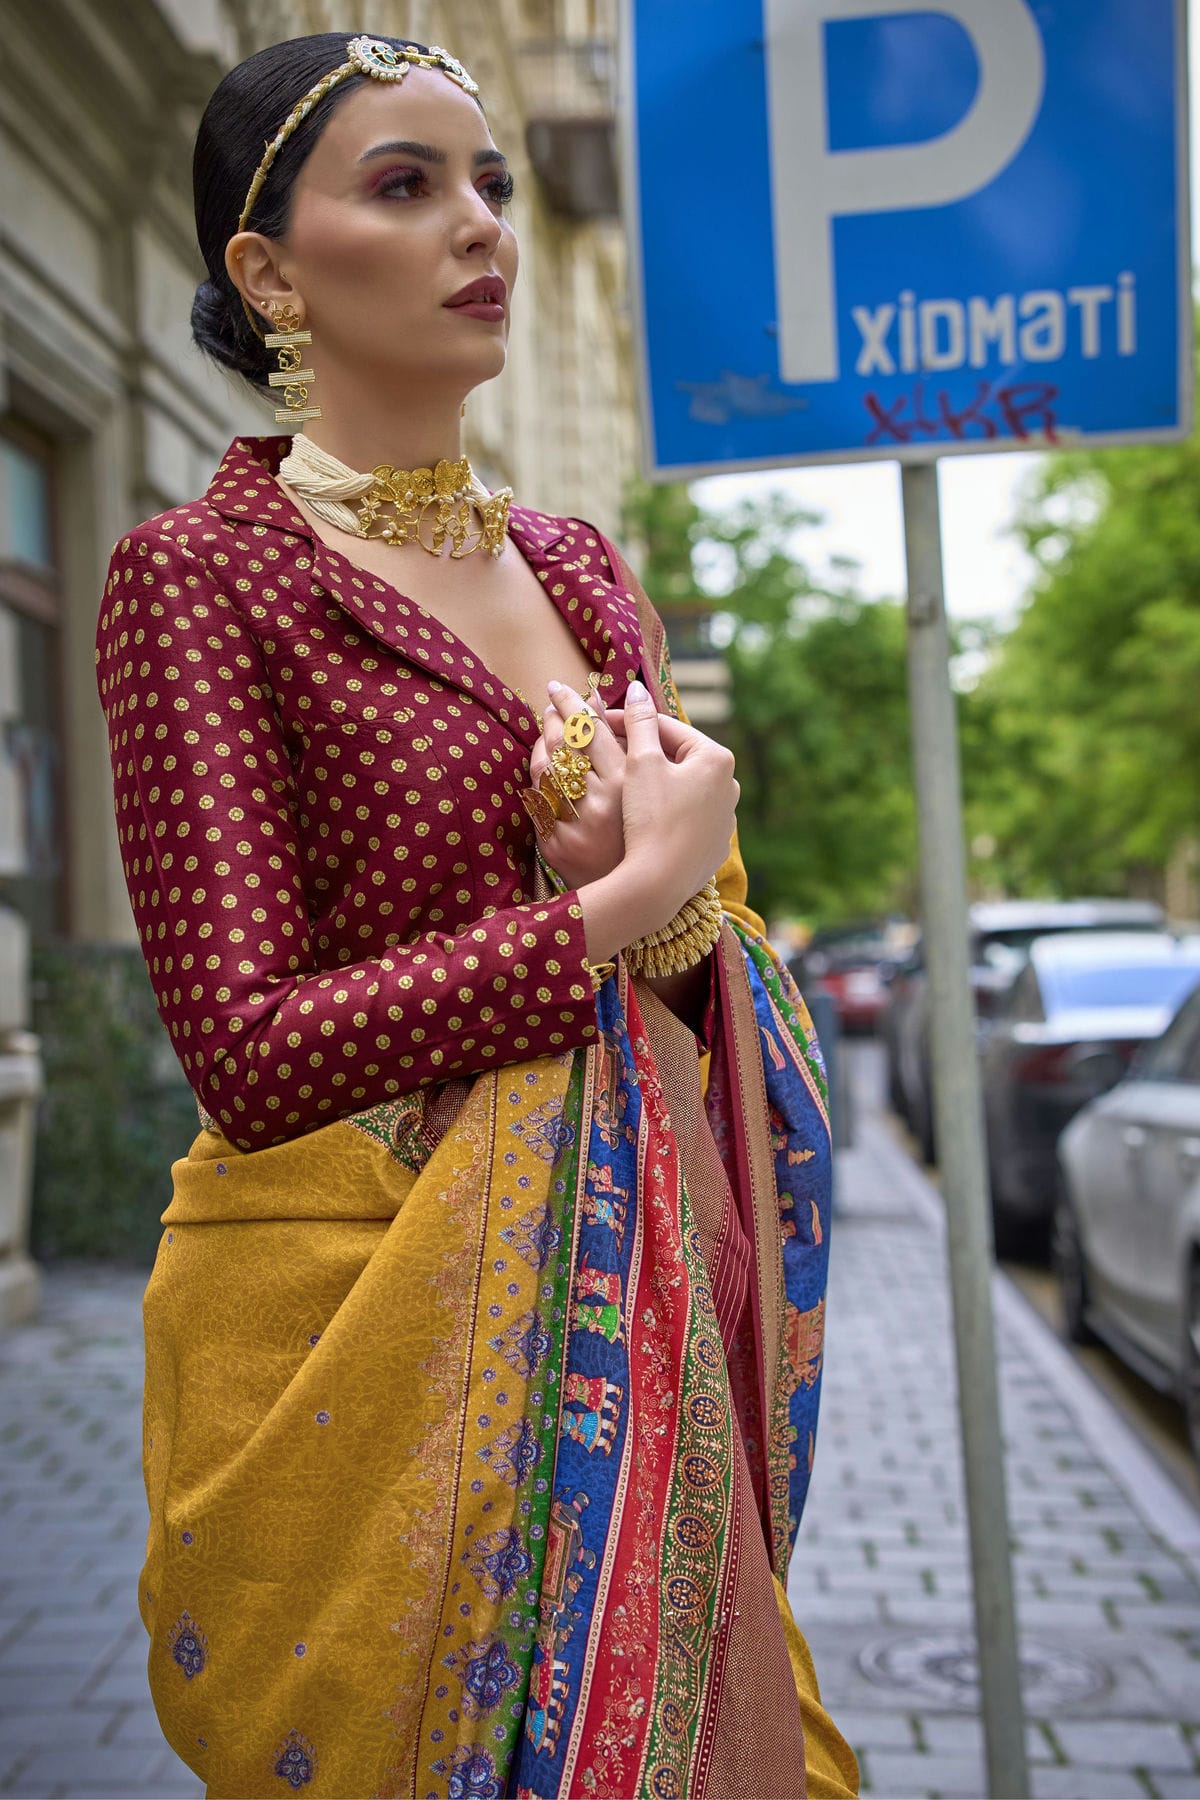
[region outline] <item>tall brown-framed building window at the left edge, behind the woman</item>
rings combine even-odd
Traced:
[[[45,940],[67,929],[54,461],[52,446],[13,418],[0,419],[0,608],[16,664],[16,713],[0,720],[0,756],[16,770],[23,839],[23,869],[5,878],[4,898]]]

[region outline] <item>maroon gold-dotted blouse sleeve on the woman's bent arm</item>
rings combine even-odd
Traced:
[[[317,968],[270,680],[243,616],[184,544],[117,545],[95,655],[158,1013],[237,1148],[596,1037],[574,891]]]

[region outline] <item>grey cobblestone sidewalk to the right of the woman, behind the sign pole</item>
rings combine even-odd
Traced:
[[[790,1597],[864,1793],[957,1800],[986,1789],[941,1202],[858,1062]],[[1200,1796],[1200,1516],[1004,1276],[995,1305],[1033,1793]]]

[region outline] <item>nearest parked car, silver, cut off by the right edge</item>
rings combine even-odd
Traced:
[[[1200,1460],[1200,986],[1058,1145],[1052,1260],[1076,1343],[1101,1336],[1184,1404]]]

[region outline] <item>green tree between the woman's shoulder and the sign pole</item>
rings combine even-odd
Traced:
[[[910,902],[914,806],[903,612],[865,601],[851,571],[817,583],[801,554],[813,524],[779,491],[718,513],[685,488],[637,490],[626,518],[667,634],[671,605],[698,592],[729,626],[754,904],[831,922]]]

